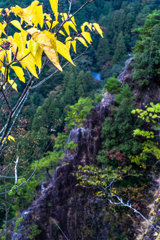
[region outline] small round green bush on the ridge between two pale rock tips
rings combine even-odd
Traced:
[[[108,79],[107,83],[105,84],[105,87],[109,93],[118,93],[121,89],[121,82],[118,81],[117,78],[111,77]]]

